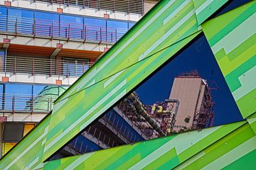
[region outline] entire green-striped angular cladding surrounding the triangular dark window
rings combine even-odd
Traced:
[[[240,169],[255,166],[256,1],[208,20],[227,1],[162,0],[55,101],[0,169]],[[204,33],[245,121],[46,160]]]

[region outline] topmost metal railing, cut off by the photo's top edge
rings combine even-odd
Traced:
[[[33,0],[45,1],[50,4],[66,6],[81,6],[82,8],[97,8],[109,11],[144,14],[144,0]]]

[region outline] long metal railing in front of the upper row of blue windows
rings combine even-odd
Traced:
[[[50,38],[50,40],[75,40],[113,44],[127,32],[123,28],[90,26],[78,23],[38,20],[0,15],[0,32],[12,35],[28,35],[33,38]]]

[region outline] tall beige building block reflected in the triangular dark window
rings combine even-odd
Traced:
[[[197,72],[176,77],[169,98],[179,101],[174,132],[201,129],[213,125],[214,103],[210,87]]]

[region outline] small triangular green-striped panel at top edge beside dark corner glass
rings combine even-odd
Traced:
[[[198,24],[201,25],[226,2],[228,0],[193,0]]]

